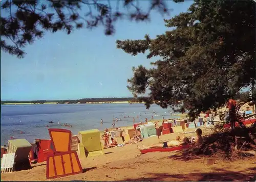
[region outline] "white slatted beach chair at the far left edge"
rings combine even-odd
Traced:
[[[15,159],[15,153],[6,153],[3,154],[2,164],[1,164],[1,172],[9,173],[13,170],[13,165]]]

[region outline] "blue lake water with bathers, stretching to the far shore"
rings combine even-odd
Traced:
[[[153,113],[155,111],[155,113]],[[1,109],[1,145],[8,144],[14,136],[16,139],[25,138],[33,142],[36,138],[50,138],[48,128],[70,129],[73,135],[79,131],[112,127],[113,117],[122,119],[116,126],[133,125],[140,121],[170,118],[172,109],[162,109],[157,105],[147,110],[142,103],[137,104],[77,104],[77,105],[2,105]],[[141,113],[141,116],[140,116]],[[139,118],[137,118],[139,115]],[[156,116],[155,116],[156,115]],[[124,118],[126,116],[126,118]],[[129,116],[129,118],[127,117]],[[103,124],[101,125],[101,119]],[[49,124],[50,121],[53,123]],[[60,124],[57,122],[59,121]],[[72,127],[61,126],[63,123]],[[50,127],[46,127],[49,124]],[[23,134],[20,134],[20,131]]]

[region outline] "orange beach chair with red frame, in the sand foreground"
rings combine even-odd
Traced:
[[[82,173],[76,151],[71,150],[72,133],[68,129],[48,129],[54,154],[46,161],[46,178],[57,178]]]

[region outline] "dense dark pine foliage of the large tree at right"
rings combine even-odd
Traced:
[[[149,50],[148,59],[161,57],[154,68],[134,68],[128,88],[147,108],[155,101],[195,117],[223,106],[241,88],[255,86],[255,4],[196,0],[187,12],[164,20],[176,29],[155,39],[117,40],[125,53]],[[141,98],[147,90],[148,97]]]

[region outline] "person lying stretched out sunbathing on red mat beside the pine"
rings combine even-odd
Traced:
[[[148,148],[167,148],[167,147],[174,147],[174,146],[180,146],[180,145],[185,145],[190,143],[189,139],[187,137],[184,137],[183,141],[179,141],[179,140],[170,140],[168,142],[163,142],[160,144],[155,144],[155,145],[151,145],[151,146],[145,146],[142,145],[142,147],[138,146],[139,150],[145,150]]]

